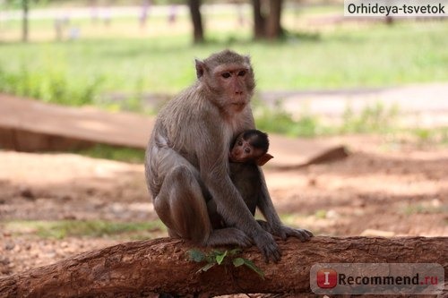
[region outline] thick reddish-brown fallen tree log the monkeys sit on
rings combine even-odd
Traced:
[[[151,293],[212,296],[236,293],[311,293],[315,263],[439,263],[448,276],[448,237],[314,237],[279,241],[282,259],[265,264],[255,247],[242,256],[265,273],[262,281],[244,266],[215,266],[187,260],[194,248],[161,238],[89,251],[55,264],[0,279],[0,297],[142,297]]]

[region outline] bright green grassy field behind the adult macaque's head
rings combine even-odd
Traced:
[[[194,81],[194,57],[226,47],[252,56],[262,90],[448,80],[448,21],[321,29],[297,21],[312,20],[313,15],[327,14],[287,14],[289,38],[280,43],[252,42],[249,24],[239,28],[235,16],[218,15],[207,21],[211,42],[201,46],[191,45],[186,16],[173,28],[164,19],[151,19],[144,32],[130,19],[114,20],[110,27],[81,20],[76,22],[81,38],[60,42],[52,41],[52,21],[32,21],[35,41],[0,44],[0,90],[49,101],[66,96],[68,104],[88,103],[110,92],[174,94]],[[226,22],[228,28],[222,25]],[[4,24],[0,40],[14,30],[18,35],[18,29],[18,21]],[[84,99],[78,103],[75,98]]]

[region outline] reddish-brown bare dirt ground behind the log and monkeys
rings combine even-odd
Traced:
[[[446,146],[422,148],[375,136],[337,139],[347,144],[349,158],[288,171],[264,167],[285,223],[314,234],[448,236]],[[157,219],[142,165],[0,151],[0,277],[133,239],[42,237],[17,224],[97,219]],[[153,232],[166,235],[163,229]]]

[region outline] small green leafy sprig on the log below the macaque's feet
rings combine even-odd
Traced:
[[[202,268],[200,268],[197,271],[197,273],[206,272],[210,268],[213,268],[215,265],[221,265],[221,264],[224,266],[233,265],[235,268],[245,265],[247,268],[250,268],[256,274],[258,274],[259,277],[264,279],[263,270],[258,268],[253,261],[237,257],[237,255],[240,253],[241,250],[239,249],[231,251],[213,250],[209,251],[208,253],[205,253],[198,249],[187,251],[188,260],[193,260],[196,263],[206,262],[206,264],[202,266]]]

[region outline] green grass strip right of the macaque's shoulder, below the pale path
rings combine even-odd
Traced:
[[[295,117],[289,114],[278,102],[275,106],[266,106],[254,101],[254,118],[256,126],[264,132],[274,132],[291,137],[312,138],[340,134],[375,133],[387,135],[393,143],[402,140],[418,146],[448,145],[448,127],[419,128],[402,127],[399,124],[399,106],[384,106],[376,102],[366,106],[358,114],[347,106],[341,123],[325,123],[322,117],[304,112]]]

